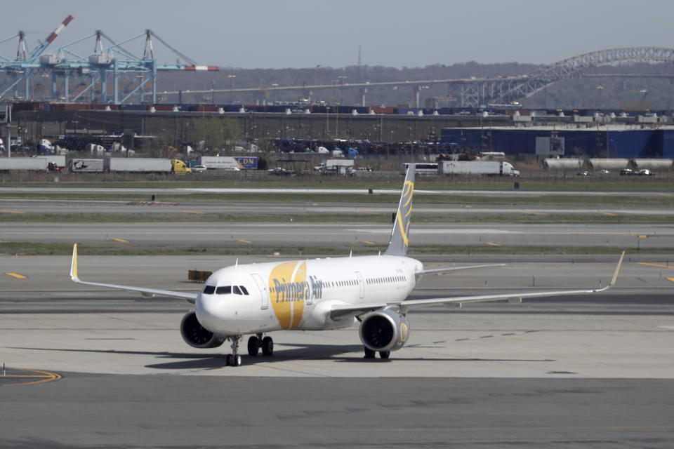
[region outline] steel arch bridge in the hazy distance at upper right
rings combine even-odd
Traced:
[[[674,62],[674,48],[630,47],[593,51],[554,62],[527,75],[466,80],[458,86],[457,96],[462,107],[509,104],[529,98],[555,81],[581,77],[588,69],[615,62]]]

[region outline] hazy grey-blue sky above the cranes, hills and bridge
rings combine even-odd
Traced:
[[[150,28],[201,65],[242,68],[423,67],[456,62],[550,63],[630,46],[672,46],[674,1],[653,0],[5,0],[0,40],[29,50],[68,14],[50,49],[101,29],[115,41]],[[15,58],[18,39],[0,44]],[[145,41],[126,48],[142,55]],[[176,57],[154,41],[160,63]],[[90,38],[77,48],[93,51]]]

